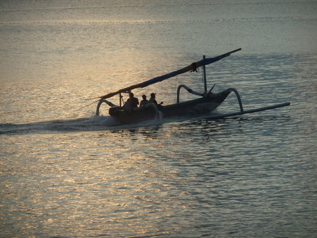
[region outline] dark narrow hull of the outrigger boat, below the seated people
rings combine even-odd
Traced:
[[[225,90],[218,94],[211,94],[206,98],[199,98],[182,103],[171,104],[159,109],[160,117],[170,118],[186,115],[202,115],[215,110],[230,94]],[[122,124],[132,124],[141,121],[153,120],[157,113],[153,109],[140,109],[133,112],[121,111],[114,117]]]

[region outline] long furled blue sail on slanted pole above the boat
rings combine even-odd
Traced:
[[[210,63],[213,63],[213,62],[216,62],[226,56],[229,56],[231,53],[234,53],[236,51],[239,51],[241,50],[241,48],[239,49],[236,49],[236,50],[233,50],[233,51],[230,51],[230,52],[227,52],[225,54],[222,54],[222,55],[219,55],[217,57],[213,57],[213,58],[204,58],[198,62],[194,62],[182,69],[179,69],[179,70],[176,70],[174,72],[170,72],[170,73],[167,73],[167,74],[164,74],[162,76],[158,76],[158,77],[154,77],[152,78],[151,80],[147,80],[145,82],[142,82],[142,83],[139,83],[139,84],[136,84],[136,85],[132,85],[130,87],[127,87],[127,88],[124,88],[124,89],[120,89],[116,92],[113,92],[113,93],[109,93],[109,94],[106,94],[102,97],[98,97],[98,98],[101,98],[101,99],[107,99],[107,98],[111,98],[117,94],[120,94],[120,93],[123,93],[123,92],[127,92],[127,91],[130,91],[130,90],[133,90],[133,89],[138,89],[138,88],[144,88],[146,86],[149,86],[151,84],[155,84],[155,83],[158,83],[158,82],[162,82],[164,80],[167,80],[168,78],[170,77],[174,77],[178,74],[181,74],[181,73],[185,73],[185,72],[188,72],[190,70],[195,70],[196,68],[200,67],[200,66],[204,66],[204,65],[207,65],[207,64],[210,64]]]

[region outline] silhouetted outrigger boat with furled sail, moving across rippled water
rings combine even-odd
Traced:
[[[203,59],[194,62],[182,69],[176,70],[174,72],[170,72],[167,74],[164,74],[159,77],[154,77],[151,80],[145,81],[140,84],[132,85],[130,87],[120,89],[116,92],[109,93],[107,95],[97,97],[100,98],[96,102],[98,102],[97,105],[97,110],[96,110],[96,115],[99,115],[99,109],[102,103],[106,103],[110,106],[109,108],[109,115],[116,118],[120,123],[122,124],[131,124],[131,123],[138,123],[141,121],[146,121],[146,120],[153,120],[157,118],[169,118],[169,117],[178,117],[178,116],[186,116],[186,115],[191,115],[191,116],[199,116],[199,115],[206,115],[207,113],[212,112],[215,110],[226,98],[227,96],[233,92],[237,100],[239,101],[240,105],[240,111],[239,112],[233,112],[233,113],[227,113],[227,114],[220,114],[220,115],[210,115],[210,116],[204,116],[203,118],[208,118],[208,119],[217,119],[217,118],[225,118],[225,117],[232,117],[232,116],[237,116],[237,115],[243,115],[247,113],[254,113],[254,112],[260,112],[264,110],[270,110],[274,108],[279,108],[279,107],[285,107],[289,106],[290,103],[282,103],[282,104],[277,104],[273,106],[268,106],[268,107],[263,107],[263,108],[258,108],[258,109],[253,109],[253,110],[244,110],[241,102],[241,97],[239,93],[233,89],[233,88],[228,88],[224,90],[223,92],[219,93],[213,93],[211,92],[213,87],[207,91],[207,81],[206,81],[206,68],[205,65],[211,64],[213,62],[216,62],[224,57],[229,56],[230,54],[241,50],[241,48],[227,52],[225,54],[213,57],[213,58],[205,58],[203,56]],[[204,80],[204,92],[203,93],[198,93],[190,88],[188,88],[186,85],[180,85],[177,89],[177,100],[175,104],[167,105],[162,108],[158,108],[155,104],[153,103],[148,103],[144,108],[131,108],[131,106],[126,103],[122,104],[122,94],[129,94],[130,101],[132,101],[132,95],[131,91],[137,88],[144,88],[147,87],[151,84],[159,83],[164,80],[167,80],[168,78],[174,77],[178,74],[185,73],[188,71],[197,71],[198,67],[203,68],[203,80]],[[194,100],[189,100],[186,102],[179,102],[179,96],[180,96],[180,90],[184,88],[186,89],[189,93],[200,96],[198,99]],[[119,106],[114,105],[113,103],[109,102],[107,99],[119,95]],[[94,99],[97,99],[94,98]],[[192,117],[191,117],[192,118]]]

